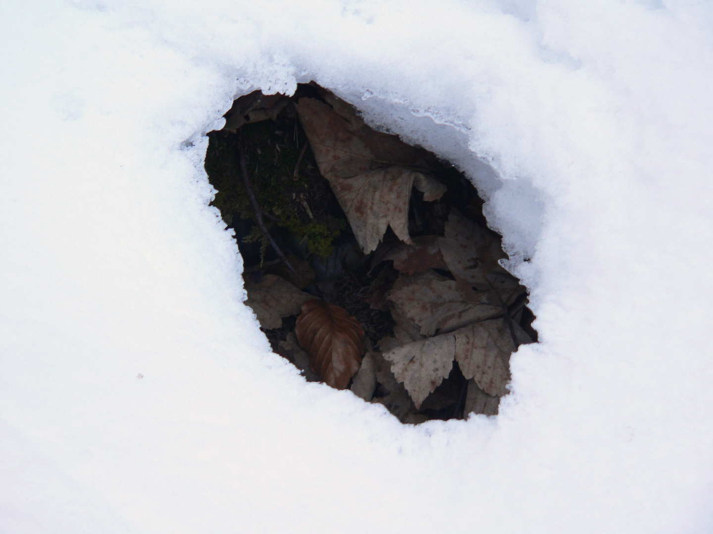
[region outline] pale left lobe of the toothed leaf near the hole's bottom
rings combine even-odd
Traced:
[[[453,335],[445,334],[396,347],[384,354],[384,358],[391,362],[391,372],[404,384],[419,409],[424,399],[448,377],[455,350]]]

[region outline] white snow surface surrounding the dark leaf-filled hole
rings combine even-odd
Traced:
[[[713,532],[708,1],[0,14],[0,533]],[[540,335],[498,417],[307,384],[242,304],[205,133],[309,80],[486,198]]]

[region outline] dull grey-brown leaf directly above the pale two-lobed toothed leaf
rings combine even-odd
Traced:
[[[488,292],[464,293],[435,271],[399,276],[389,293],[398,313],[420,327],[421,335],[450,332],[503,312]]]

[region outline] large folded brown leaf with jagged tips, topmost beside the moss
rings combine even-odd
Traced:
[[[423,153],[394,135],[371,130],[354,109],[332,95],[329,102],[301,98],[295,106],[317,160],[364,253],[374,251],[391,226],[406,243],[409,200],[414,185],[424,199],[440,198],[446,187],[414,170],[429,163]]]

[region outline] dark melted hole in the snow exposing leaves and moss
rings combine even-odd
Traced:
[[[404,423],[497,414],[511,353],[537,333],[471,182],[314,83],[225,117],[212,204],[273,350]]]

